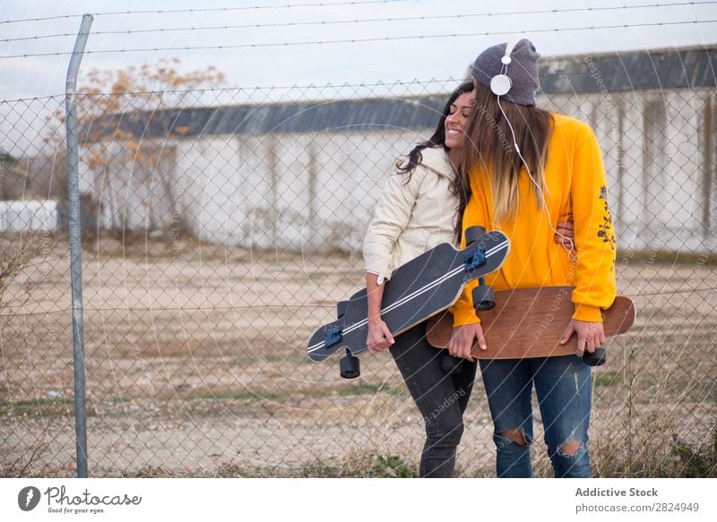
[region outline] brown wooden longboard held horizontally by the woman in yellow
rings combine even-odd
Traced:
[[[496,292],[496,307],[480,311],[480,325],[487,350],[473,345],[471,355],[479,359],[522,359],[575,353],[575,334],[565,345],[560,338],[574,313],[573,287],[519,288]],[[626,332],[635,321],[635,304],[618,295],[602,312],[605,336]],[[453,315],[445,312],[428,321],[428,342],[447,347],[453,330]]]

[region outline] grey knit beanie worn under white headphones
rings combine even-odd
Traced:
[[[502,71],[503,64],[500,60],[505,56],[507,45],[498,44],[488,47],[480,53],[473,64],[473,78],[488,89],[490,88],[490,79]],[[513,47],[510,58],[511,62],[507,65],[506,74],[511,80],[511,88],[502,98],[518,105],[535,105],[535,91],[540,88],[538,81],[540,54],[535,51],[531,40],[522,39]]]

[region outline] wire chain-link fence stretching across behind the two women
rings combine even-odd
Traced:
[[[598,134],[638,311],[593,371],[593,471],[715,475],[717,97],[592,80],[539,105]],[[80,97],[90,475],[415,474],[423,422],[390,355],[343,381],[306,346],[363,286],[384,178],[458,84]],[[0,103],[4,476],[74,474],[63,103]],[[490,476],[480,379],[466,417],[458,474]]]

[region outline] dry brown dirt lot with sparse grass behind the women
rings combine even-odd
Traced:
[[[74,473],[69,254],[56,238],[39,248],[0,307],[6,476]],[[335,302],[361,286],[357,255],[108,238],[82,255],[91,475],[290,476],[377,455],[418,462],[422,420],[390,355],[363,356],[355,381],[341,380],[336,360],[306,357]],[[656,475],[675,437],[697,448],[717,421],[717,267],[623,254],[617,270],[638,315],[593,371],[593,463],[604,476]],[[490,476],[480,380],[473,394],[459,474]],[[549,475],[537,409],[535,441]]]

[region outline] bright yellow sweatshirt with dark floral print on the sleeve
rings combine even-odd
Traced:
[[[597,138],[588,124],[553,114],[545,168],[547,209],[535,198],[533,184],[523,169],[519,178],[519,209],[514,221],[497,223],[488,175],[479,167],[471,172],[471,199],[463,214],[462,247],[465,230],[479,225],[501,230],[510,238],[510,252],[500,270],[486,278],[496,290],[522,287],[574,286],[573,318],[600,322],[600,309],[615,299],[615,235],[608,206],[605,168]],[[576,252],[553,241],[552,227],[574,218]],[[466,286],[454,304],[454,326],[479,322]]]

